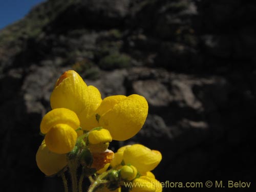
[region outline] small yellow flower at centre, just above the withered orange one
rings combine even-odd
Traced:
[[[91,152],[104,152],[112,141],[110,132],[106,129],[95,129],[88,135],[89,148]]]

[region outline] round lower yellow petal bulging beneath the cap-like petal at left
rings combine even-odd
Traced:
[[[57,154],[66,154],[73,150],[77,133],[68,124],[57,124],[46,134],[45,141],[49,150]]]

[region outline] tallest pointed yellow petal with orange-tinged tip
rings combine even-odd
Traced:
[[[73,70],[63,73],[55,84],[50,102],[52,109],[67,108],[80,114],[87,106],[87,84]]]

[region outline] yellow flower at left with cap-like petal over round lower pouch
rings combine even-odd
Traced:
[[[77,115],[68,109],[58,108],[48,112],[41,121],[40,131],[45,136],[49,150],[57,154],[69,153],[75,146],[79,127]]]

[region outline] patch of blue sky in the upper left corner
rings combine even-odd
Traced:
[[[0,0],[0,29],[23,18],[32,7],[45,0]]]

